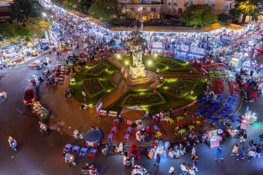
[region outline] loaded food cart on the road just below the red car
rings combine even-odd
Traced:
[[[44,108],[42,104],[40,104],[40,102],[37,101],[31,103],[31,109],[32,112],[36,114],[37,118],[39,118],[41,122],[46,122],[50,119],[50,113],[48,109]]]

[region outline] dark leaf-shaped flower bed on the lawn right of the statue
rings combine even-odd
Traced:
[[[175,84],[169,84],[165,93],[169,93],[170,95],[174,95],[176,98],[182,98],[187,95],[195,86],[197,86],[198,82],[190,81],[190,80],[179,80],[175,82]]]

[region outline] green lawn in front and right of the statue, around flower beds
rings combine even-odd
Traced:
[[[154,112],[154,111],[167,111],[169,109],[177,109],[180,107],[184,107],[185,105],[189,104],[190,102],[194,101],[195,96],[200,97],[203,93],[203,90],[206,89],[206,81],[205,80],[192,80],[197,82],[197,86],[192,89],[194,91],[194,95],[184,95],[182,98],[176,98],[170,94],[165,93],[167,90],[167,84],[174,84],[178,80],[167,80],[162,86],[158,87],[156,91],[161,93],[163,98],[165,99],[165,104],[154,105],[152,107],[142,107],[143,109]],[[152,94],[153,90],[144,89],[141,91],[128,91],[125,97],[128,94],[137,94],[137,95],[145,95],[145,94]],[[122,110],[122,103],[125,100],[125,97],[118,100],[118,102],[114,105],[114,107],[109,108],[111,111],[118,111]],[[139,104],[138,104],[139,105]],[[140,106],[140,105],[139,105]]]

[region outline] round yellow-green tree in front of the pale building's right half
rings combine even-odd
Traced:
[[[181,20],[185,22],[187,26],[196,28],[217,22],[217,16],[212,14],[212,8],[210,6],[206,4],[194,4],[186,8]]]

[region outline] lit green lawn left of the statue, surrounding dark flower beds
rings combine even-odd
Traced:
[[[101,64],[101,63],[107,64],[107,66],[109,66],[109,68],[105,69],[105,71],[103,71],[103,73],[100,73],[100,75],[89,75],[89,73],[87,73],[91,68],[94,68],[97,64]],[[74,76],[76,84],[70,85],[74,91],[74,93],[73,93],[74,98],[76,100],[78,100],[79,102],[84,102],[84,97],[82,95],[82,91],[85,91],[85,90],[84,90],[84,86],[82,84],[82,80],[86,80],[88,78],[93,78],[93,77],[98,77],[101,84],[107,90],[103,91],[102,93],[99,93],[98,95],[96,95],[93,98],[89,98],[88,95],[86,96],[87,104],[90,104],[91,106],[93,106],[94,104],[96,104],[98,102],[98,100],[100,100],[100,98],[104,98],[105,96],[109,95],[109,93],[111,93],[114,89],[116,89],[116,86],[114,86],[114,84],[112,84],[109,79],[110,79],[111,75],[117,70],[118,70],[118,68],[109,64],[109,62],[107,62],[107,61],[98,62],[93,66],[85,66],[81,72],[76,73],[76,75]]]

